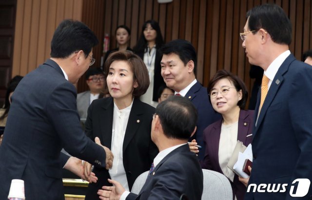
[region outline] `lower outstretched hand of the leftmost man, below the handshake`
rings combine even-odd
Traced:
[[[73,172],[81,179],[87,180],[90,183],[98,181],[98,177],[96,177],[95,173],[91,172],[89,175],[84,174],[82,161],[76,157],[70,157],[67,163],[65,164],[64,168]]]

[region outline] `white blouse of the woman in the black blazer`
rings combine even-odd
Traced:
[[[130,106],[125,109],[118,109],[114,102],[113,114],[113,130],[112,130],[112,148],[111,151],[114,155],[113,167],[108,170],[109,175],[113,180],[120,182],[121,185],[129,190],[126,172],[123,166],[122,146],[126,133],[126,128],[129,120],[130,111],[132,108],[133,100]]]

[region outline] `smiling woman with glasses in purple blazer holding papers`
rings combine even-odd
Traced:
[[[227,167],[237,140],[249,145],[252,142],[254,110],[244,110],[248,91],[244,82],[225,70],[218,71],[210,80],[208,88],[210,103],[222,119],[209,125],[203,133],[206,144],[203,169],[224,174],[231,183],[233,198],[243,200],[248,179],[239,178]],[[191,150],[198,153],[192,141]]]

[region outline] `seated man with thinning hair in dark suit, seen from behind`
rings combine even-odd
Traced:
[[[126,200],[200,200],[203,174],[195,153],[190,151],[188,138],[195,133],[197,113],[193,104],[173,96],[158,104],[152,121],[152,140],[159,149],[145,184],[138,195],[125,191],[119,182],[104,186],[104,198]]]

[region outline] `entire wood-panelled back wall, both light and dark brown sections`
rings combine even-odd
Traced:
[[[157,0],[18,0],[12,76],[25,75],[49,57],[53,32],[63,18],[80,19],[96,33],[100,42],[94,49],[97,67],[105,33],[110,36],[110,47],[116,48],[115,29],[126,24],[133,47],[142,24],[155,19],[166,42],[177,38],[192,42],[198,60],[196,77],[204,86],[216,71],[226,69],[251,90],[250,64],[239,33],[246,11],[268,2],[280,5],[289,16],[290,50],[301,59],[304,51],[312,49],[312,0],[173,0],[165,4]],[[80,82],[78,91],[86,90],[83,78]]]

